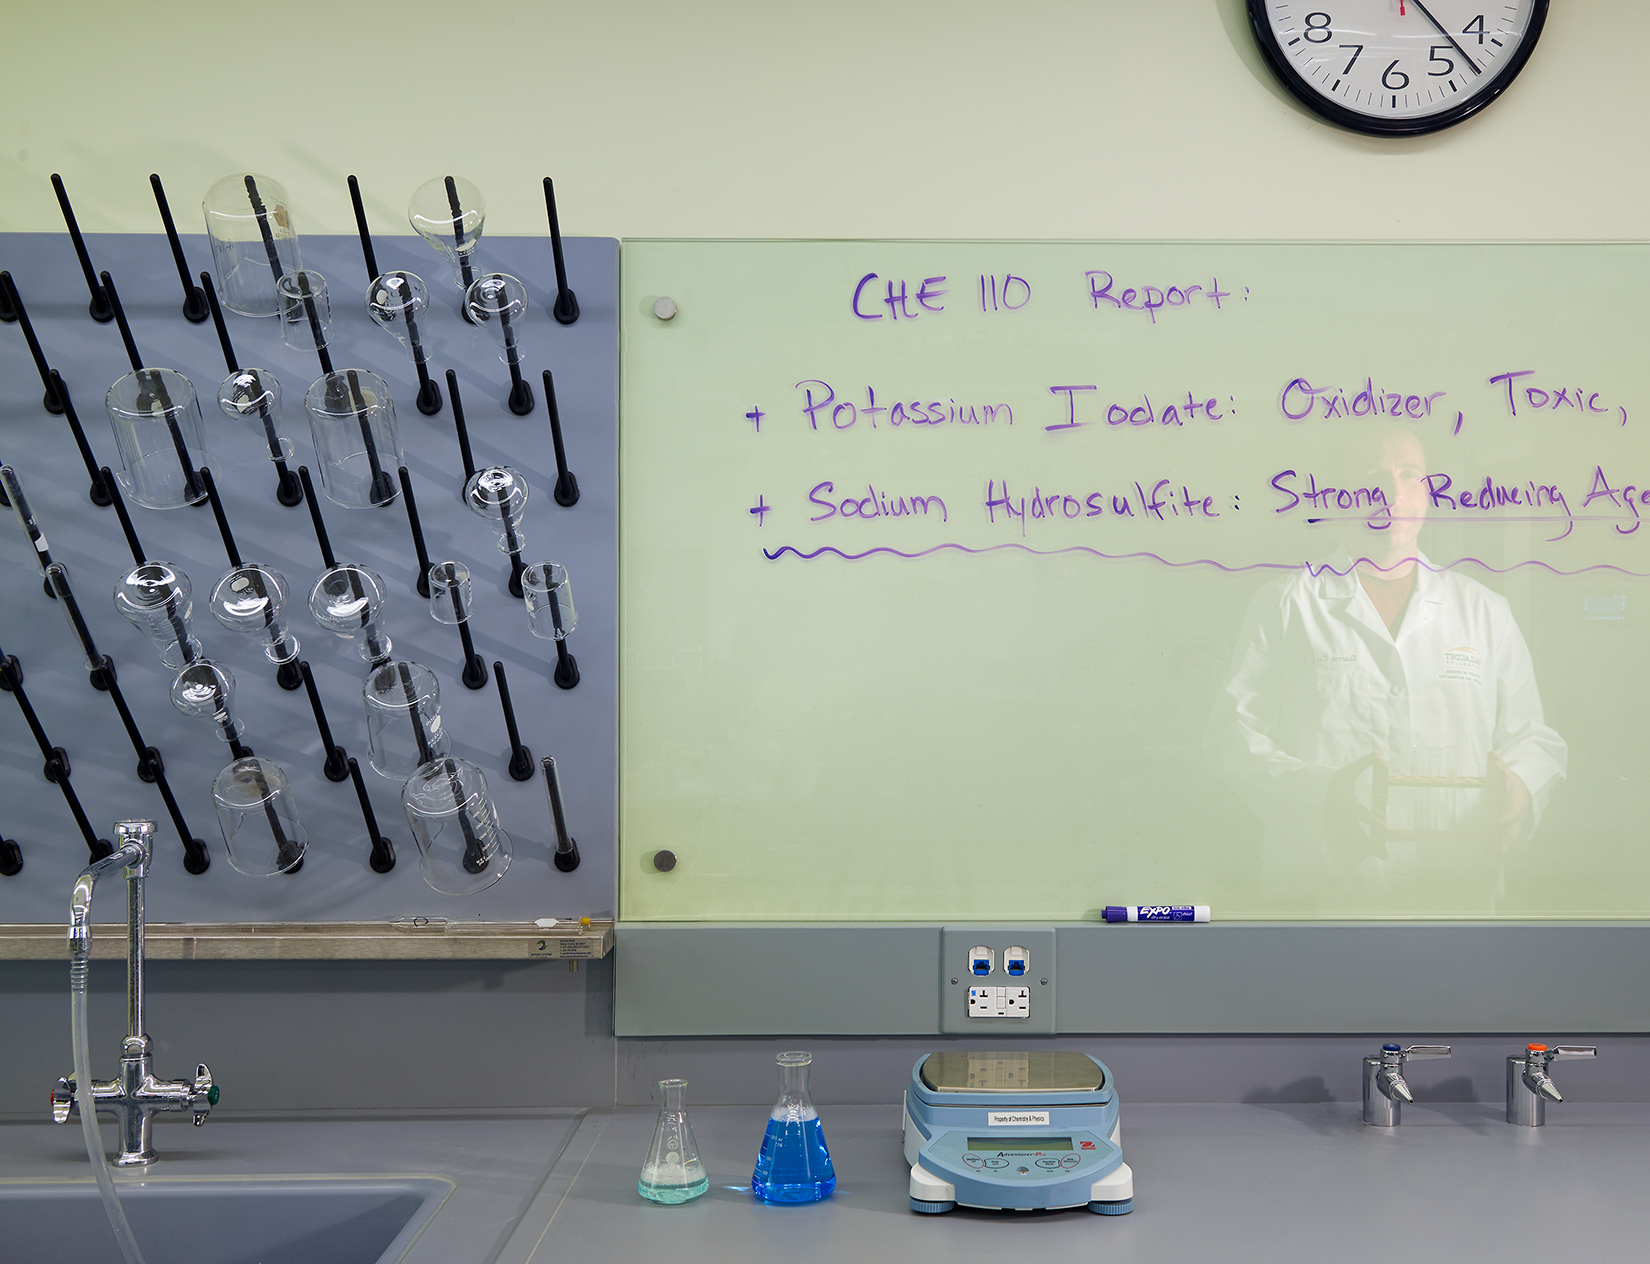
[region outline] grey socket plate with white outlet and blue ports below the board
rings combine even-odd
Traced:
[[[992,949],[992,974],[980,977],[969,969],[969,952]],[[1030,969],[1010,975],[1005,954],[1026,950]],[[940,927],[939,1030],[950,1035],[988,1036],[1002,1041],[1015,1031],[1054,1031],[1054,931],[1049,926],[987,922]],[[1025,990],[1028,995],[1020,997]],[[995,1016],[995,1015],[1002,1016]],[[1018,1015],[1025,1016],[1018,1016]]]

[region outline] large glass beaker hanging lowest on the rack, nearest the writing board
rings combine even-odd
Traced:
[[[450,896],[485,891],[510,868],[510,835],[487,777],[467,759],[432,759],[401,787],[417,863],[431,889]]]

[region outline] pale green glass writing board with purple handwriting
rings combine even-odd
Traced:
[[[622,271],[622,919],[1650,916],[1650,248]]]

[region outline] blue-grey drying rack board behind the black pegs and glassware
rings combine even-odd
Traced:
[[[497,551],[488,523],[460,502],[464,467],[450,399],[432,417],[414,406],[417,378],[403,348],[366,315],[366,271],[353,236],[304,238],[304,266],[328,281],[337,368],[363,368],[388,381],[406,465],[432,561],[455,559],[474,576],[472,634],[488,663],[488,683],[472,691],[459,683],[459,632],[434,622],[414,591],[417,558],[401,497],[378,510],[345,510],[322,495],[322,512],[338,561],[380,573],[388,587],[384,629],[398,657],[427,665],[441,682],[442,723],[452,754],[482,767],[515,851],[505,876],[475,896],[432,891],[419,875],[417,850],[401,809],[401,784],[371,772],[361,680],[366,663],[355,647],[322,632],[307,599],[322,571],[320,551],[304,505],[277,503],[267,452],[216,408],[224,360],[211,322],[182,315],[182,289],[162,234],[89,234],[92,262],[119,287],[145,365],[186,375],[201,401],[210,465],[229,525],[246,561],[280,571],[290,587],[289,622],[302,642],[327,708],[333,739],[361,766],[380,832],[398,863],[388,875],[368,866],[368,837],[355,789],[322,776],[323,749],[304,690],[277,686],[274,667],[249,637],[219,627],[206,606],[228,569],[211,510],[152,512],[132,505],[137,533],[150,558],[182,566],[195,587],[195,635],[206,653],[236,678],[243,741],[285,767],[309,832],[300,871],[274,878],[236,873],[224,855],[211,804],[211,781],[228,746],[214,729],[177,713],[168,701],[172,673],[114,609],[111,594],[132,558],[112,508],[96,508],[69,426],[41,404],[40,378],[18,325],[0,325],[0,459],[12,464],[46,533],[54,561],[69,569],[74,594],[96,637],[114,658],[127,705],[150,746],[165,757],[167,777],[191,832],[206,842],[211,868],[183,868],[177,830],[153,785],[139,781],[135,756],[107,695],[87,682],[82,655],[56,602],[41,591],[28,541],[10,510],[0,510],[0,645],[25,670],[25,688],[51,741],[69,752],[73,784],[99,837],[122,817],[158,823],[157,863],[148,881],[148,947],[175,957],[599,957],[612,946],[615,762],[615,563],[617,563],[617,285],[619,243],[566,239],[569,285],[581,317],[563,327],[549,315],[556,294],[548,238],[485,238],[482,271],[520,277],[530,312],[521,330],[521,363],[536,403],[526,417],[507,406],[508,370],[485,330],[459,315],[450,269],[422,241],[375,241],[383,271],[417,272],[429,284],[431,371],[447,394],[444,371],[459,373],[477,465],[507,464],[531,487],[525,559],[554,559],[568,568],[578,609],[569,647],[581,682],[551,683],[554,645],[528,634],[526,611],[508,594],[508,558]],[[206,238],[185,234],[193,272],[211,266]],[[104,393],[129,371],[114,323],[97,325],[66,234],[0,236],[0,267],[12,272],[40,343],[66,381],[99,464],[120,467],[104,411]],[[318,376],[312,351],[282,345],[276,320],[226,314],[243,366],[267,368],[280,381],[284,432],[295,442],[292,469],[317,475],[302,398]],[[571,508],[549,495],[556,462],[543,399],[541,371],[556,378],[556,396],[581,497]],[[320,495],[320,480],[315,479]],[[561,771],[568,825],[581,865],[559,873],[551,863],[554,827],[544,784],[512,781],[510,741],[492,678],[493,660],[510,677],[521,741],[535,759],[554,756]],[[86,865],[86,847],[59,790],[41,774],[41,757],[10,698],[0,698],[0,833],[23,850],[23,870],[0,878],[0,959],[63,954],[61,927],[69,888]],[[106,914],[107,916],[107,914]],[[581,924],[579,919],[589,919]],[[559,919],[541,926],[540,919]],[[111,952],[120,949],[104,936]]]

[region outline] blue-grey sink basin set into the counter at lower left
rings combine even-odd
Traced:
[[[399,1259],[452,1193],[447,1180],[120,1181],[150,1264],[378,1264]],[[7,1264],[122,1264],[91,1181],[0,1185]]]

